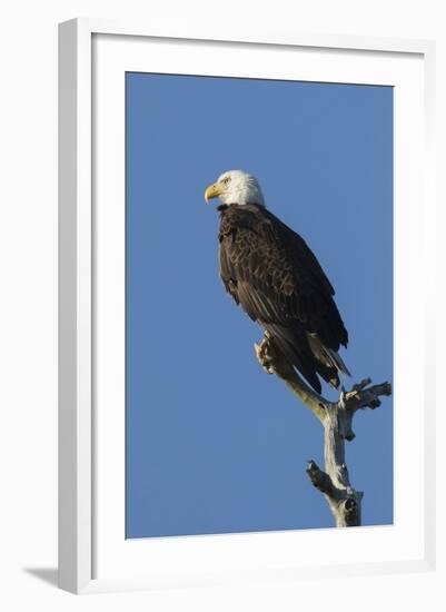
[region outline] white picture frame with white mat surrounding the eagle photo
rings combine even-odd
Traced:
[[[202,53],[205,48],[207,53]],[[110,337],[110,329],[116,327],[116,322],[119,324],[123,312],[122,217],[119,208],[123,185],[122,124],[118,121],[120,127],[110,128],[122,115],[122,71],[188,73],[190,70],[194,73],[231,76],[237,63],[237,76],[271,77],[277,76],[277,68],[271,68],[268,56],[277,52],[281,52],[284,59],[280,62],[281,78],[329,80],[327,62],[321,58],[330,55],[333,81],[374,82],[399,88],[402,93],[397,96],[397,105],[400,106],[395,109],[395,138],[400,145],[396,147],[395,157],[396,204],[405,198],[406,220],[404,227],[398,225],[402,217],[396,215],[397,248],[402,256],[410,257],[410,238],[418,233],[423,250],[416,254],[418,263],[410,260],[414,269],[420,261],[435,258],[429,240],[435,231],[433,42],[290,32],[210,33],[189,29],[167,32],[139,23],[97,19],[61,23],[59,584],[68,591],[85,593],[151,589],[166,584],[212,584],[249,581],[258,576],[293,580],[316,574],[428,571],[435,565],[435,397],[434,385],[428,379],[433,371],[429,359],[434,354],[430,349],[434,330],[432,326],[425,326],[430,316],[429,300],[413,302],[403,317],[400,313],[398,316],[402,299],[396,299],[396,348],[405,326],[415,325],[419,355],[416,363],[409,364],[405,363],[403,352],[396,353],[400,355],[400,378],[410,376],[412,387],[409,395],[399,387],[395,397],[396,403],[405,404],[410,418],[405,423],[406,440],[397,447],[400,456],[396,455],[396,471],[402,462],[408,462],[408,473],[398,472],[396,486],[400,490],[396,491],[394,526],[138,542],[123,539],[123,406],[122,386],[119,387],[123,336],[120,333],[113,335],[113,351],[107,351],[102,342]],[[294,53],[297,52],[303,60],[298,75],[294,72]],[[261,53],[261,61],[254,59],[258,53]],[[150,63],[155,56],[156,66]],[[200,63],[205,57],[207,67]],[[252,66],[256,66],[255,72]],[[98,107],[98,96],[110,100],[107,112],[103,107]],[[409,125],[410,129],[404,129]],[[102,144],[102,138],[107,142]],[[105,176],[109,178],[105,180]],[[110,203],[106,215],[95,204],[103,197]],[[397,206],[396,210],[400,208]],[[422,233],[416,210],[423,217]],[[113,248],[110,248],[111,243]],[[415,259],[414,253],[412,257]],[[107,276],[102,274],[103,266],[116,270],[116,284],[101,282]],[[397,296],[403,298],[408,290],[407,279],[398,263],[395,270],[400,292]],[[429,270],[422,279],[424,292],[420,293],[425,296],[433,296],[432,275]],[[111,296],[117,298],[113,299],[117,307],[110,315],[111,319],[102,323],[98,304],[107,304]],[[117,386],[112,387],[115,384]],[[106,397],[110,409],[103,419],[101,405]],[[396,418],[396,435],[398,424]],[[107,477],[105,465],[116,475],[111,478],[113,482]],[[403,512],[402,503],[408,499],[413,478],[417,480],[422,493],[417,503],[405,506]],[[106,513],[107,507],[110,510]],[[317,554],[321,546],[324,564]],[[344,557],[335,555],[339,549],[345,551]],[[296,559],[296,550],[303,551],[300,559]]]

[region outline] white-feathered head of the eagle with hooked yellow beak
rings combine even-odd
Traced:
[[[264,194],[257,178],[242,170],[228,170],[205,191],[205,200],[220,198],[224,204],[259,204],[265,206]]]

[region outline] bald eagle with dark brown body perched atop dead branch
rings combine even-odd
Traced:
[[[349,372],[338,355],[348,333],[335,290],[305,240],[267,210],[257,179],[222,174],[205,191],[219,197],[219,267],[229,295],[264,327],[290,364],[321,392]]]

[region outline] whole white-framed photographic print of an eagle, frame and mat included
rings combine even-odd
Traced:
[[[433,43],[59,56],[60,585],[432,567]]]

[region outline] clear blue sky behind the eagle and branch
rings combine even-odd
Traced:
[[[333,526],[323,428],[258,365],[205,188],[240,168],[315,251],[353,382],[393,377],[393,90],[127,75],[127,537]],[[325,387],[325,394],[334,397]],[[392,398],[347,444],[363,523],[393,521]]]

